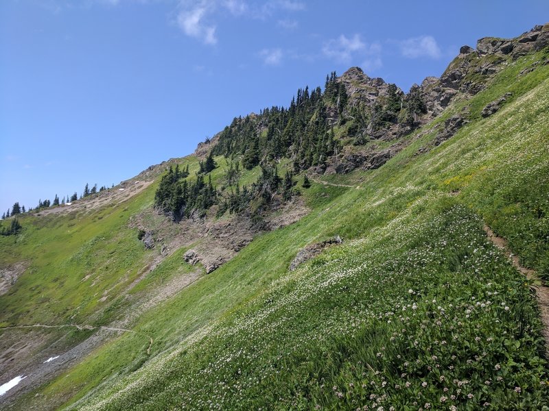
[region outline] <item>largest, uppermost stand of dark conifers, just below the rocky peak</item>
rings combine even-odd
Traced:
[[[273,106],[259,115],[233,119],[218,134],[213,154],[240,156],[247,170],[260,162],[291,158],[293,171],[298,173],[325,164],[340,151],[334,125],[349,123],[347,136],[355,137],[360,145],[369,140],[362,138],[366,130],[376,132],[399,123],[417,127],[425,112],[417,88],[404,95],[395,84],[389,84],[388,95],[373,106],[364,101],[350,104],[344,84],[332,72],[326,77],[324,92],[320,87],[300,88],[288,108]]]

